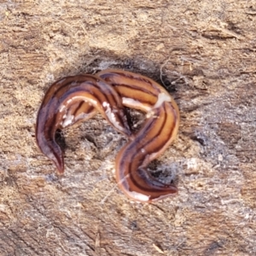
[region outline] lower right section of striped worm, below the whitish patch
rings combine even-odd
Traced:
[[[160,183],[147,170],[169,145],[177,132],[177,113],[165,102],[154,108],[135,139],[122,148],[116,158],[119,188],[136,201],[156,201],[177,192],[173,185]]]

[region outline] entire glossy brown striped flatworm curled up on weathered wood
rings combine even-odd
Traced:
[[[105,81],[105,82],[104,82]],[[137,134],[125,118],[124,108],[146,113],[146,121]],[[38,112],[38,146],[63,172],[63,154],[55,142],[55,131],[90,119],[96,110],[131,140],[116,158],[119,188],[135,201],[157,201],[175,194],[174,185],[160,183],[147,170],[177,135],[179,111],[169,93],[152,79],[140,74],[108,69],[96,76],[80,75],[52,84]]]

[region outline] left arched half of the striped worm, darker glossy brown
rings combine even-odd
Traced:
[[[89,119],[96,110],[113,127],[131,136],[124,107],[118,93],[104,80],[92,75],[71,76],[56,81],[49,87],[38,111],[36,138],[38,147],[64,172],[61,147],[55,141],[58,129]]]

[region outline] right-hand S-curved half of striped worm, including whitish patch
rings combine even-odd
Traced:
[[[160,84],[142,75],[120,70],[106,70],[97,75],[113,85],[126,107],[147,113],[143,127],[117,155],[119,189],[142,202],[177,193],[174,185],[160,183],[147,170],[148,163],[162,154],[177,135],[180,117],[176,102]]]

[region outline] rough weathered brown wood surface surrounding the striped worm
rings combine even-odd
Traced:
[[[0,255],[255,255],[255,24],[253,0],[0,1]],[[63,131],[64,177],[39,152],[49,84],[107,67],[176,98],[179,135],[151,166],[176,197],[119,192],[125,137],[100,115]]]

